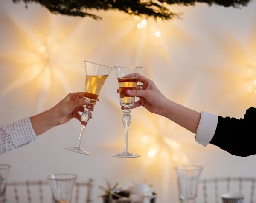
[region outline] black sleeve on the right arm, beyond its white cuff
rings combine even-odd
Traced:
[[[249,108],[244,119],[218,116],[210,143],[236,156],[256,154],[256,108]]]

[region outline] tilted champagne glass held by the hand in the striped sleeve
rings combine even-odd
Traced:
[[[81,132],[76,147],[64,147],[64,149],[80,154],[90,155],[89,152],[86,152],[84,149],[80,148],[82,135],[84,133],[85,126],[90,119],[90,111],[96,104],[100,90],[102,89],[105,80],[113,68],[89,61],[84,62],[86,70],[84,99],[90,99],[90,102],[84,106],[84,113],[81,115]]]

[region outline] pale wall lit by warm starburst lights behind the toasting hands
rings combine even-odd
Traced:
[[[241,118],[256,101],[254,89],[247,90],[256,76],[256,4],[242,9],[198,4],[173,6],[172,10],[184,12],[183,20],[155,23],[149,19],[148,27],[140,30],[134,17],[117,11],[97,12],[103,20],[96,21],[52,15],[34,4],[26,10],[23,4],[2,0],[0,124],[47,110],[69,91],[83,91],[83,60],[110,66],[142,65],[142,74],[154,80],[172,101],[197,111]],[[151,25],[159,29],[161,37],[154,36]],[[47,42],[49,36],[52,42]],[[39,51],[41,46],[46,47],[44,54]],[[35,70],[40,63],[41,73]],[[141,158],[112,158],[111,153],[121,152],[124,144],[117,87],[112,72],[81,143],[92,155],[62,148],[77,142],[80,124],[72,120],[39,136],[34,144],[1,155],[0,163],[12,166],[9,180],[75,173],[80,181],[96,180],[93,197],[99,203],[98,186],[105,185],[104,178],[123,187],[130,186],[132,179],[147,179],[159,194],[158,203],[175,203],[174,166],[186,161],[182,153],[187,163],[204,166],[202,177],[256,177],[255,156],[239,158],[215,146],[204,148],[192,133],[143,108],[131,112],[129,137],[130,151],[140,153]],[[148,146],[140,139],[144,135],[154,138],[157,133],[180,145],[179,151],[171,149],[178,155],[177,162],[172,160],[173,154],[147,156]]]

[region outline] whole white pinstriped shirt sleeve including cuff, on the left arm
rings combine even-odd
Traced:
[[[0,154],[36,141],[30,117],[0,126]]]

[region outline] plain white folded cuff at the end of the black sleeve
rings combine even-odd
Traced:
[[[218,116],[201,112],[201,119],[196,130],[195,141],[206,147],[212,140],[218,124]]]

